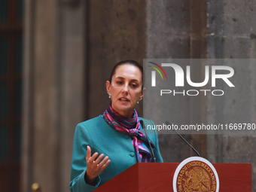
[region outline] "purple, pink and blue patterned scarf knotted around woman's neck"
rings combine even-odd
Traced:
[[[133,111],[133,117],[126,118],[120,116],[120,114],[117,114],[117,112],[111,108],[110,104],[109,107],[104,111],[103,117],[108,125],[114,130],[117,130],[120,133],[130,134],[138,162],[152,161],[151,153],[149,152],[147,146],[149,138],[147,138],[147,136],[140,131],[139,117],[135,109]],[[152,148],[154,148],[154,144],[150,139],[149,142],[151,143]]]

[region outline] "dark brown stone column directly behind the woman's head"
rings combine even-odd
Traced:
[[[110,104],[105,82],[114,65],[127,59],[143,65],[146,52],[145,0],[90,0],[89,5],[87,119],[99,116]],[[142,116],[142,102],[136,110]]]

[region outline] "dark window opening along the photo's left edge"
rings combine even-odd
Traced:
[[[20,191],[23,0],[0,0],[0,191]]]

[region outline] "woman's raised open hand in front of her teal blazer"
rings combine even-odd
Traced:
[[[104,154],[100,154],[98,158],[99,153],[94,153],[93,156],[91,156],[91,149],[90,146],[87,146],[87,171],[84,175],[84,179],[87,182],[87,184],[95,185],[94,181],[98,175],[102,173],[102,171],[108,166],[110,163],[110,160],[108,160],[108,156],[106,156],[104,159]],[[103,160],[102,160],[103,159]]]

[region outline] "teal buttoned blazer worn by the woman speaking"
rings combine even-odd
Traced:
[[[142,118],[139,118],[141,120]],[[147,125],[154,125],[151,120],[142,119]],[[154,155],[157,162],[163,162],[158,147],[158,138],[156,130],[146,130],[148,137],[154,143]],[[144,132],[144,130],[143,130]],[[92,149],[92,155],[95,152],[109,157],[111,163],[96,178],[96,186],[87,184],[84,181],[84,174],[87,170],[86,154],[87,145]],[[87,192],[96,190],[97,187],[105,184],[111,178],[120,174],[137,163],[136,153],[133,148],[132,140],[129,134],[117,132],[108,126],[102,115],[93,119],[79,123],[75,129],[71,182],[69,189],[71,192]],[[129,179],[129,178],[127,178]]]

